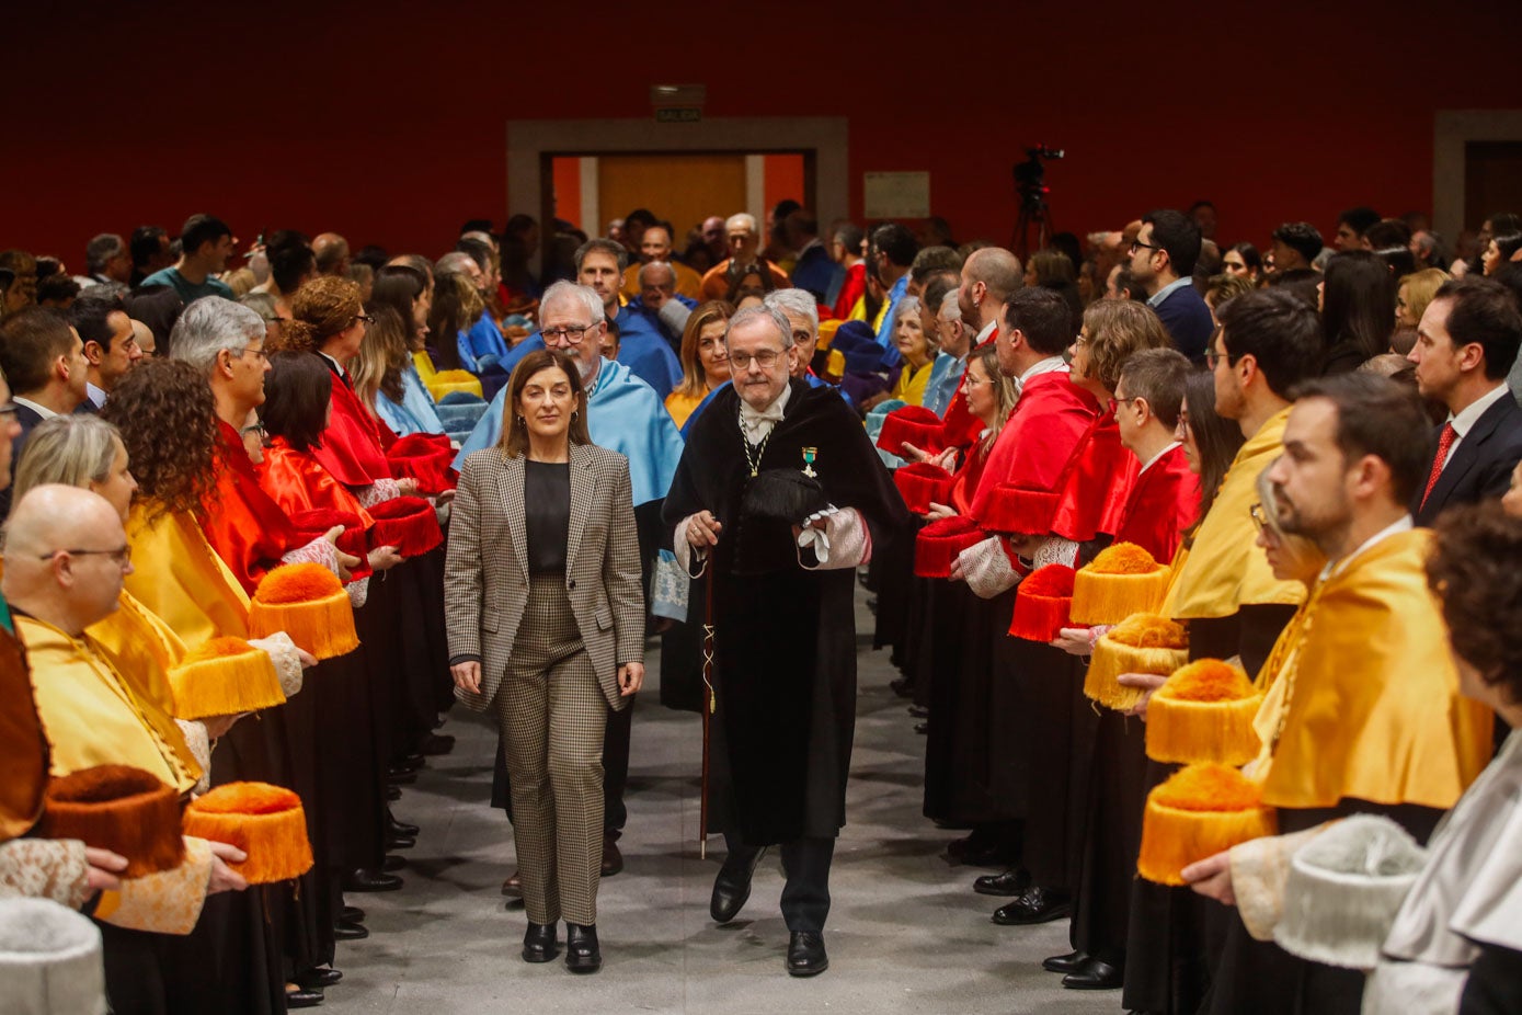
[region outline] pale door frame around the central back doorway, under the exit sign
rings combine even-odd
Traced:
[[[507,207],[537,208],[543,242],[551,239],[551,160],[572,155],[798,154],[804,155],[804,201],[820,224],[848,218],[848,117],[712,117],[697,123],[638,120],[508,120]],[[594,225],[587,233],[597,228]]]

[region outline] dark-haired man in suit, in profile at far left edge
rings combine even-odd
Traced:
[[[21,425],[11,452],[11,475],[26,437],[38,423],[67,415],[85,400],[90,361],[79,332],[56,310],[29,306],[0,318],[0,370],[5,371]],[[11,492],[0,492],[0,517],[11,511]]]

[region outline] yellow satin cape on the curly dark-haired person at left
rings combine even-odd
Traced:
[[[186,511],[148,522],[134,504],[126,519],[132,574],[126,590],[186,645],[248,638],[248,595]]]

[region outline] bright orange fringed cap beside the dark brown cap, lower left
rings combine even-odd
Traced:
[[[312,867],[301,797],[266,782],[228,782],[186,808],[186,834],[237,846],[248,860],[228,864],[250,884],[271,884]]]

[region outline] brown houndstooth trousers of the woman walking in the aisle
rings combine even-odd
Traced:
[[[496,714],[528,919],[597,924],[607,698],[581,644],[563,575],[530,577]]]

